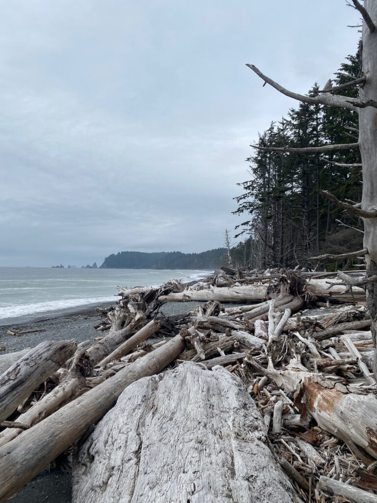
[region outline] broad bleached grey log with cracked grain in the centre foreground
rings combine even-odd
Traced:
[[[72,501],[300,501],[265,440],[237,377],[184,363],[121,395],[74,460]]]

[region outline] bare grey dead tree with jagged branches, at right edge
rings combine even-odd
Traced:
[[[320,104],[324,106],[341,107],[357,111],[359,116],[358,142],[325,145],[324,147],[311,147],[305,149],[295,148],[268,148],[271,151],[282,152],[326,152],[331,150],[344,150],[359,148],[362,161],[362,200],[361,207],[343,203],[332,194],[325,195],[329,200],[339,205],[347,211],[363,218],[364,221],[364,248],[366,248],[367,276],[372,277],[377,271],[377,2],[375,0],[365,0],[361,5],[358,0],[352,0],[352,4],[360,12],[362,23],[362,52],[361,52],[361,75],[347,84],[359,85],[359,98],[348,98],[346,96],[332,94],[336,89],[330,85],[326,86],[319,96],[304,96],[294,93],[282,87],[280,84],[264,75],[256,66],[247,66],[256,73],[263,81],[268,83],[280,93],[309,104]],[[347,86],[348,87],[348,86]],[[255,145],[253,145],[255,146]],[[255,146],[256,148],[260,148]],[[374,342],[374,374],[377,377],[377,283],[370,282],[366,285],[367,304],[371,318],[371,332]]]

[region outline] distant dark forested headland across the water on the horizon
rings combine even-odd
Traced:
[[[214,270],[224,265],[225,248],[215,248],[202,253],[181,251],[119,251],[109,255],[101,269],[207,269]]]

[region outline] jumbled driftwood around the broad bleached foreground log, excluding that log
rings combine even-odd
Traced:
[[[73,357],[75,346],[65,342],[69,350],[47,373],[37,351],[39,378],[29,387],[21,379],[12,400],[4,400],[0,501],[77,443],[131,382],[187,361],[201,369],[220,365],[243,383],[302,501],[335,501],[344,485],[350,500],[365,493],[374,501],[377,400],[365,290],[348,291],[344,281],[329,290],[327,281],[341,278],[319,274],[224,268],[191,288],[175,281],[120,287],[116,305],[101,310],[100,341]],[[194,298],[202,303],[193,311],[159,314],[168,300]],[[235,299],[238,305],[226,304]],[[0,381],[15,369],[24,375],[35,350],[16,363],[6,355],[12,366]]]

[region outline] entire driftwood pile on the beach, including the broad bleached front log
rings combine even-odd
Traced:
[[[0,357],[0,501],[65,453],[75,503],[377,503],[363,274],[223,268],[119,288],[95,345]],[[159,314],[186,300],[202,303]]]

